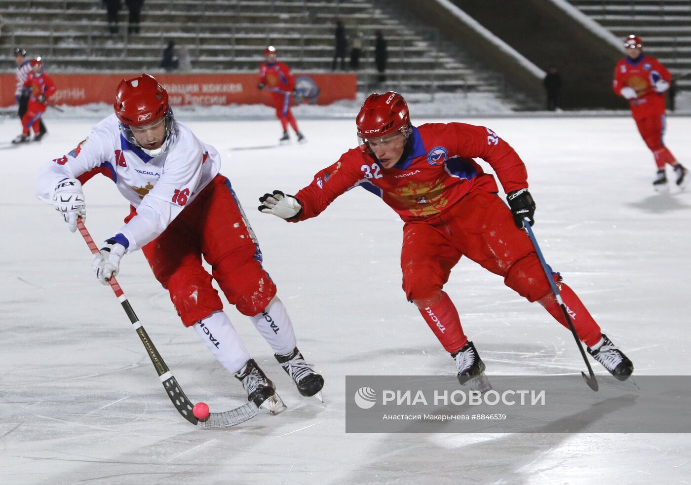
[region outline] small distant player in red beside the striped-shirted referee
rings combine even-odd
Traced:
[[[46,132],[41,133],[41,115],[48,107],[48,99],[55,93],[55,83],[43,69],[43,59],[35,57],[30,61],[31,72],[26,77],[24,88],[30,89],[29,102],[26,113],[21,117],[21,135],[12,143],[26,143],[29,141],[30,130],[34,130],[34,141],[39,142]]]

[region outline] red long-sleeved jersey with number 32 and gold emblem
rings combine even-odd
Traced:
[[[473,158],[488,162],[504,191],[528,187],[525,165],[495,132],[464,123],[430,123],[413,128],[410,153],[384,169],[369,153],[351,149],[295,194],[303,207],[297,220],[312,218],[358,185],[381,197],[404,221],[444,213],[471,190],[498,192],[491,174]]]

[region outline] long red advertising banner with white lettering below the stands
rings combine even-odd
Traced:
[[[120,81],[140,74],[50,74],[57,86],[50,102],[70,106],[112,103]],[[355,99],[357,76],[354,74],[296,74],[295,77],[296,89],[304,103],[330,104],[339,99]],[[168,91],[171,106],[273,106],[271,93],[257,88],[256,74],[156,74],[155,78]],[[14,74],[0,74],[0,106],[15,104],[16,86]]]

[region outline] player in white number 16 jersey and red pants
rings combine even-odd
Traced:
[[[168,289],[182,323],[193,327],[216,359],[235,374],[247,399],[272,412],[285,409],[223,312],[214,278],[228,301],[249,316],[299,392],[313,396],[324,380],[296,347],[290,317],[230,182],[218,173],[220,155],[173,118],[168,93],[148,74],[123,80],[115,114],[86,140],[39,171],[37,196],[55,206],[70,231],[86,218],[82,183],[97,173],[111,178],[131,204],[125,224],[95,255],[104,285],[120,259],[142,249],[155,278]],[[202,256],[212,274],[202,267]],[[213,336],[213,338],[210,338]]]

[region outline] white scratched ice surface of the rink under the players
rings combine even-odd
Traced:
[[[652,191],[652,155],[634,122],[464,121],[486,124],[527,162],[548,262],[636,373],[689,374],[691,193]],[[227,430],[193,428],[165,396],[111,289],[93,277],[82,238],[33,196],[39,166],[73,149],[92,121],[48,115],[46,124],[50,136],[41,144],[0,150],[0,483],[691,482],[687,435],[606,434],[597,422],[574,435],[345,434],[345,375],[453,373],[453,361],[401,292],[402,224],[377,198],[357,189],[298,225],[256,211],[258,196],[293,193],[353,146],[351,120],[303,121],[308,144],[266,149],[252,147],[278,138],[274,120],[189,122],[224,157],[223,173],[245,205],[300,348],[325,376],[328,403],[299,397],[249,319],[229,307],[289,408]],[[6,119],[0,128],[9,140],[17,126]],[[690,118],[670,118],[666,141],[691,165],[690,130]],[[105,178],[85,193],[87,226],[103,240],[120,227],[126,204]],[[238,382],[178,322],[143,256],[126,256],[121,269],[124,291],[188,396],[212,410],[239,405]],[[583,370],[571,334],[500,278],[462,260],[446,291],[488,374]],[[585,385],[583,392],[590,392]]]

